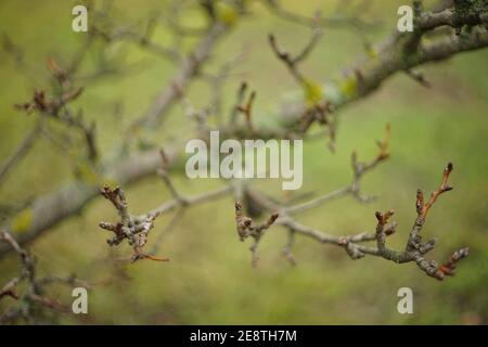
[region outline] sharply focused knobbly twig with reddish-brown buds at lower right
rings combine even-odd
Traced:
[[[414,261],[418,267],[425,272],[427,275],[435,278],[437,280],[444,280],[446,275],[453,275],[453,271],[458,262],[467,256],[468,248],[461,248],[453,253],[448,260],[438,265],[434,260],[426,260],[425,254],[434,248],[435,241],[429,240],[426,243],[422,242],[422,236],[420,232],[425,223],[425,217],[432,205],[436,202],[437,197],[452,188],[447,184],[450,172],[452,171],[452,164],[448,164],[445,172],[442,175],[442,181],[437,191],[435,191],[431,200],[427,203],[423,203],[422,198],[418,195],[416,208],[418,218],[415,219],[414,226],[410,231],[409,239],[407,241],[407,246],[404,250],[390,249],[386,245],[386,237],[394,234],[397,228],[396,222],[388,223],[389,219],[394,215],[393,210],[387,210],[386,213],[375,213],[377,220],[376,230],[374,233],[362,232],[354,235],[337,236],[335,234],[324,233],[320,230],[304,226],[296,219],[290,216],[287,209],[273,200],[267,197],[266,195],[253,191],[249,193],[251,200],[254,204],[259,205],[262,209],[269,211],[278,211],[272,216],[280,216],[280,218],[273,217],[269,219],[268,222],[258,224],[262,230],[267,230],[272,223],[285,227],[293,235],[305,235],[311,237],[320,243],[332,244],[343,247],[351,259],[360,259],[365,255],[381,257],[387,260],[391,260],[396,264],[404,264]],[[307,203],[305,203],[307,204]],[[236,203],[235,205],[235,220],[237,224],[237,232],[241,240],[247,237],[248,235],[258,235],[257,241],[252,245],[253,250],[253,264],[255,265],[256,247],[257,243],[262,235],[261,232],[255,232],[254,230],[258,227],[253,224],[253,220],[249,217],[245,217],[242,214],[242,205]],[[272,220],[272,222],[270,222]],[[375,241],[376,247],[363,245],[363,242]],[[288,241],[285,247],[285,255],[290,257],[292,255],[291,243]],[[293,264],[295,258],[293,257]]]

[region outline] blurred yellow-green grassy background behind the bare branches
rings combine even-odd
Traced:
[[[381,20],[382,26],[367,33],[372,41],[385,38],[396,27],[397,9],[406,1],[371,1],[367,18]],[[202,22],[191,1],[183,20]],[[291,11],[311,14],[321,9],[331,13],[337,1],[283,1]],[[426,1],[426,5],[432,2]],[[26,61],[46,72],[46,59],[63,62],[74,54],[84,34],[70,30],[72,1],[1,1],[0,33],[22,47]],[[165,1],[116,1],[118,21],[136,23],[158,10]],[[242,51],[246,59],[235,68],[224,87],[224,105],[234,102],[241,80],[257,91],[255,110],[266,117],[283,93],[297,86],[284,66],[271,53],[267,35],[277,35],[282,47],[294,52],[307,42],[310,30],[270,14],[261,4],[252,5],[253,14],[239,21],[218,46],[207,66]],[[120,22],[123,23],[123,22]],[[155,40],[169,43],[169,34],[157,30]],[[184,44],[191,47],[192,40]],[[363,53],[357,33],[325,28],[317,49],[303,64],[314,80],[333,78],[341,68]],[[123,125],[145,111],[154,95],[168,83],[175,66],[133,46],[119,44],[110,54],[123,56],[134,66],[125,76],[111,77],[85,90],[75,105],[82,106],[88,119],[95,119],[103,149],[117,142]],[[97,52],[92,53],[97,59]],[[90,62],[89,59],[89,62]],[[156,324],[486,324],[488,322],[488,51],[458,55],[449,61],[422,66],[432,88],[424,89],[398,74],[374,94],[339,111],[337,150],[331,153],[324,140],[308,142],[304,153],[303,191],[326,192],[349,182],[351,151],[361,159],[376,153],[375,140],[390,123],[391,158],[364,179],[364,193],[378,200],[361,205],[347,197],[308,211],[299,220],[334,234],[373,231],[375,210],[393,208],[399,228],[389,245],[403,247],[415,218],[415,191],[435,189],[447,162],[454,163],[451,183],[454,190],[434,206],[424,235],[438,237],[429,254],[442,261],[461,246],[470,246],[470,257],[461,262],[454,278],[438,282],[427,278],[414,264],[395,265],[365,257],[352,261],[333,246],[297,237],[294,248],[298,266],[291,267],[280,255],[286,232],[272,228],[260,243],[260,262],[251,267],[248,244],[239,241],[231,197],[189,209],[168,232],[158,254],[168,264],[139,261],[114,265],[116,256],[130,254],[126,246],[111,249],[101,220],[115,220],[113,207],[103,198],[90,203],[79,216],[64,220],[29,245],[38,257],[40,274],[69,275],[111,284],[89,291],[89,314],[62,314],[60,323],[156,323]],[[143,68],[140,68],[140,67]],[[88,68],[88,67],[87,67]],[[30,99],[35,88],[46,85],[36,74],[22,73],[11,56],[0,55],[0,162],[34,126],[36,115],[26,116],[13,104]],[[208,85],[195,81],[189,99],[196,106],[208,103]],[[114,110],[120,114],[115,118]],[[226,108],[226,110],[227,110]],[[179,105],[171,111],[162,130],[185,137],[185,121]],[[76,154],[56,149],[46,139],[0,182],[0,205],[22,205],[29,197],[48,193],[73,179]],[[221,184],[215,180],[187,180],[175,177],[187,193],[204,192]],[[268,192],[283,197],[278,182],[257,182]],[[143,213],[170,198],[156,177],[124,188],[132,213]],[[3,217],[5,218],[5,217]],[[163,232],[170,216],[156,221],[152,236]],[[153,239],[154,240],[154,239]],[[149,247],[151,247],[151,239]],[[118,268],[120,268],[118,269]],[[118,269],[118,270],[117,270]],[[0,284],[17,271],[12,254],[0,262]],[[127,274],[118,275],[123,271]],[[397,291],[408,286],[414,293],[414,313],[399,314]],[[70,290],[53,286],[50,296],[70,303]],[[0,309],[14,305],[10,298]]]

